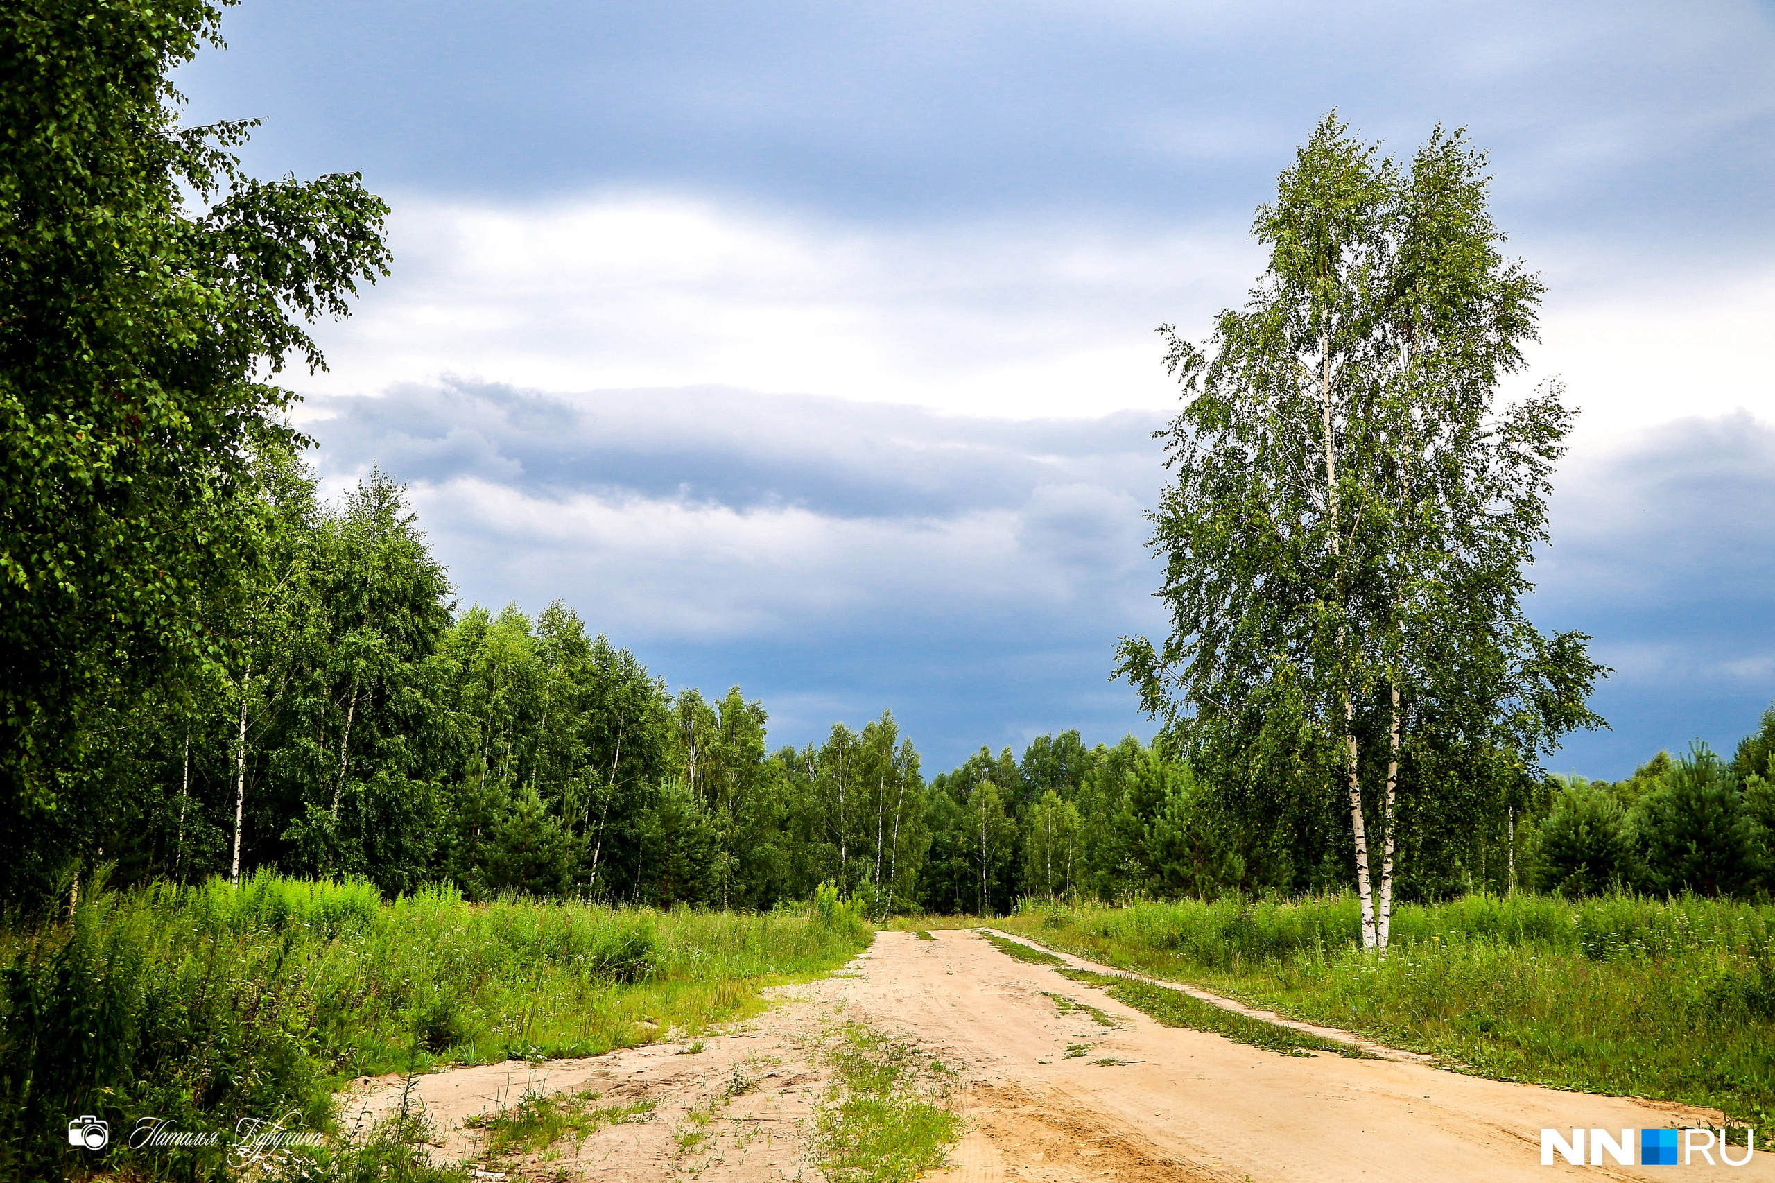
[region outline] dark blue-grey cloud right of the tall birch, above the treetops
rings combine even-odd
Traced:
[[[1596,638],[1612,732],[1555,766],[1624,776],[1660,748],[1731,751],[1775,700],[1775,426],[1679,419],[1567,472],[1535,615]]]

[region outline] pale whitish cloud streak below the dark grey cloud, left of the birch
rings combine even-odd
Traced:
[[[836,519],[623,494],[538,496],[479,478],[412,487],[470,600],[561,597],[632,639],[957,629],[1145,613],[1140,506],[1086,485],[948,517]]]

